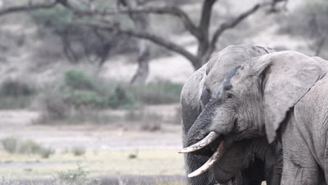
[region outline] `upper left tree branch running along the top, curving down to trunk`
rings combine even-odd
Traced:
[[[181,8],[177,8],[174,6],[168,6],[168,7],[151,7],[151,6],[137,6],[134,8],[121,8],[121,9],[114,9],[114,8],[104,8],[103,10],[96,9],[96,10],[78,10],[77,8],[74,8],[71,4],[69,4],[67,1],[65,1],[63,6],[69,8],[71,11],[74,12],[77,16],[93,16],[93,15],[100,15],[100,16],[107,16],[107,15],[118,15],[118,14],[129,14],[129,13],[155,13],[155,14],[168,14],[168,15],[174,15],[175,17],[179,18],[179,20],[182,21],[184,24],[184,27],[193,34],[193,36],[196,36],[197,38],[200,38],[200,32],[198,30],[198,27],[193,24],[189,16],[182,11]]]

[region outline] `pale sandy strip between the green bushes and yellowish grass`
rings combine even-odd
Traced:
[[[177,104],[149,107],[163,118],[174,116]],[[112,111],[122,114],[122,111]],[[0,138],[17,137],[33,139],[45,146],[64,150],[71,146],[83,146],[87,150],[131,150],[131,149],[180,149],[181,128],[167,124],[162,130],[112,129],[111,125],[36,125],[39,114],[35,111],[0,111]],[[109,123],[110,124],[110,123]],[[121,123],[124,125],[124,123]],[[138,124],[138,123],[134,123]]]

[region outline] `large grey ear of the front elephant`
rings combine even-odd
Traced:
[[[282,51],[252,60],[253,74],[259,75],[263,93],[264,126],[268,142],[287,111],[305,95],[326,71],[313,58],[295,51]]]

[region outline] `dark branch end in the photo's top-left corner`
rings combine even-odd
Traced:
[[[14,6],[9,8],[3,8],[0,9],[0,16],[6,15],[9,13],[16,13],[19,11],[35,11],[38,9],[44,9],[44,8],[53,8],[59,3],[60,0],[53,1],[52,3],[48,4],[32,4],[32,1],[29,1],[28,5],[25,6]]]

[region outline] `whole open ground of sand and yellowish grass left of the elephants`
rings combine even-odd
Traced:
[[[147,109],[168,117],[175,114],[177,104]],[[111,112],[122,114],[121,111]],[[0,149],[0,177],[51,179],[58,171],[75,169],[77,164],[90,172],[90,177],[101,175],[113,184],[121,174],[134,175],[122,177],[122,180],[130,181],[127,184],[134,184],[131,179],[143,177],[138,175],[169,175],[165,178],[173,181],[184,174],[183,156],[177,153],[182,147],[180,125],[168,124],[159,131],[146,132],[120,128],[113,130],[109,125],[36,125],[37,118],[39,114],[34,111],[0,111],[0,139],[32,139],[42,146],[55,149],[55,154],[50,158],[11,154]],[[86,149],[86,153],[74,156],[71,149],[76,146]]]

